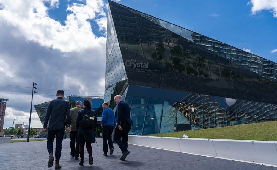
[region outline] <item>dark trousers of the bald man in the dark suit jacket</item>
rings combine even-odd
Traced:
[[[131,130],[132,125],[128,124],[126,126],[122,126],[122,130],[119,130],[119,128],[115,128],[114,132],[114,140],[119,146],[121,152],[126,152],[128,149],[128,133]],[[122,138],[122,141],[121,141]]]

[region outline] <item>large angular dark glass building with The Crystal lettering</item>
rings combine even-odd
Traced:
[[[277,120],[277,63],[108,1],[105,102],[131,135]]]

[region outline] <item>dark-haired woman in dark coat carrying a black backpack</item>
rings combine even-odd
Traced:
[[[95,111],[91,109],[91,100],[85,99],[83,101],[84,109],[78,111],[76,118],[76,127],[79,137],[79,151],[81,161],[79,165],[84,164],[84,146],[86,143],[86,150],[89,153],[89,165],[93,164],[91,143],[95,143],[95,126],[97,118]]]

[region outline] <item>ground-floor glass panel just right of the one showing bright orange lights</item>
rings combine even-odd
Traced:
[[[191,104],[191,129],[203,128],[203,105]]]

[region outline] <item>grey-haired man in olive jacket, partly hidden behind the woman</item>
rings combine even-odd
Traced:
[[[76,102],[76,107],[70,109],[72,122],[69,128],[70,135],[70,155],[71,157],[75,157],[75,160],[79,159],[79,140],[78,140],[78,132],[76,129],[76,118],[79,110],[82,110],[82,102],[78,100]],[[76,144],[76,149],[75,149]]]

